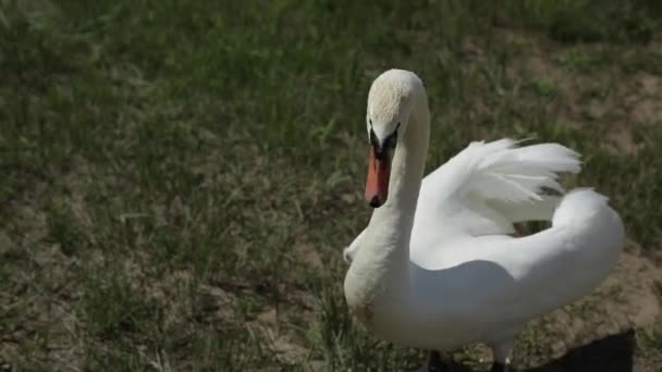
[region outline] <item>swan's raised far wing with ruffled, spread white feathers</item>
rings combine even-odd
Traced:
[[[513,233],[514,222],[550,221],[559,197],[544,190],[564,191],[559,173],[578,173],[579,154],[559,144],[517,145],[513,139],[471,142],[430,173],[420,190],[418,223],[450,223],[487,235]]]

